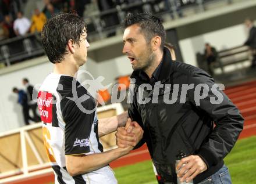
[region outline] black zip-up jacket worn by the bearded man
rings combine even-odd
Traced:
[[[144,129],[136,147],[146,142],[158,174],[165,182],[173,183],[177,179],[177,154],[197,154],[208,168],[194,178],[198,183],[223,166],[223,158],[239,137],[244,119],[225,93],[216,88],[211,76],[189,64],[172,62],[166,48],[157,70],[153,74],[157,85],[143,71],[131,75],[134,84],[128,113]],[[190,87],[187,92],[186,86]],[[200,99],[200,94],[205,98]]]

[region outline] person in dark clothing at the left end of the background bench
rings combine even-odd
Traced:
[[[216,49],[213,46],[206,43],[205,49],[204,49],[204,57],[208,64],[209,74],[213,75],[214,71],[212,70],[212,64],[214,64],[216,62],[216,60],[218,59],[218,52],[216,51]]]

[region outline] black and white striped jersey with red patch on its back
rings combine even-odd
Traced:
[[[55,183],[117,183],[109,166],[73,177],[66,170],[65,156],[103,151],[95,107],[94,98],[73,77],[49,74],[41,85],[38,109]]]

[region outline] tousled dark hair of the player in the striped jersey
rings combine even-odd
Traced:
[[[86,24],[76,13],[54,15],[42,28],[42,46],[52,63],[61,63],[68,53],[66,45],[69,39],[78,44],[80,36],[86,33]]]

